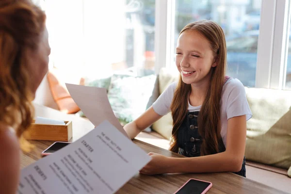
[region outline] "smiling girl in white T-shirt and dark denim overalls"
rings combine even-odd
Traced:
[[[180,72],[144,114],[124,129],[130,138],[168,112],[173,130],[170,150],[187,158],[155,153],[143,174],[234,172],[245,177],[246,121],[252,117],[241,81],[226,74],[226,40],[209,20],[185,26],[179,34]]]

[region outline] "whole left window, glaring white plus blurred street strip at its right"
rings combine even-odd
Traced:
[[[139,76],[155,73],[155,0],[45,3],[50,61],[68,76],[77,72],[92,80],[125,69]]]

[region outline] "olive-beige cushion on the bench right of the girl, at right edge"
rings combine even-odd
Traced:
[[[246,159],[288,169],[291,166],[291,91],[245,90],[253,113],[247,122]]]

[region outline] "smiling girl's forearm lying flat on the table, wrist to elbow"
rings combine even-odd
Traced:
[[[168,162],[169,173],[239,172],[242,168],[242,158],[226,151],[201,157],[170,158]]]

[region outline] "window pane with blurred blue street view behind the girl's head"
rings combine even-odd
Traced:
[[[210,19],[224,30],[227,47],[227,75],[245,86],[256,81],[260,0],[176,0],[175,44],[182,28],[190,22]]]

